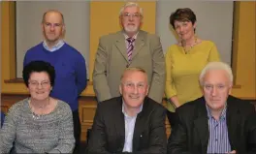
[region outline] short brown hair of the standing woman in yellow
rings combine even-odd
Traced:
[[[175,13],[172,13],[170,15],[170,24],[173,26],[174,29],[175,27],[175,21],[191,21],[192,24],[197,21],[197,16],[194,14],[194,12],[189,9],[189,8],[182,8],[182,9],[177,9]]]

